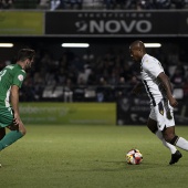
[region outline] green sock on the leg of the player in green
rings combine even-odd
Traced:
[[[0,140],[0,150],[4,149],[6,147],[10,146],[18,139],[20,139],[23,135],[18,130],[9,132],[1,140]]]

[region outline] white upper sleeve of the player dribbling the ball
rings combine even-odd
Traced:
[[[146,60],[144,62],[143,69],[148,73],[152,74],[154,77],[157,77],[161,72],[164,72],[164,69],[159,61],[156,59],[153,60]]]

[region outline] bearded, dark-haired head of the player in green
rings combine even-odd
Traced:
[[[35,51],[32,49],[21,49],[18,53],[17,62],[22,63],[22,67],[28,71],[34,62]]]

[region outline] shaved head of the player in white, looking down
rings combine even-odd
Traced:
[[[144,43],[142,41],[134,41],[129,45],[129,53],[134,61],[140,61],[146,54]]]

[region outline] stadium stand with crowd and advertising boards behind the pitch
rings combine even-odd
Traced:
[[[148,98],[130,95],[139,65],[128,53],[130,42],[143,40],[161,43],[147,52],[161,61],[170,76],[179,101],[176,122],[187,125],[187,2],[107,2],[1,1],[0,42],[11,42],[13,48],[0,48],[0,69],[14,62],[20,48],[33,48],[38,54],[20,92],[23,119],[33,124],[146,124]],[[65,49],[64,42],[86,42],[90,48]]]

